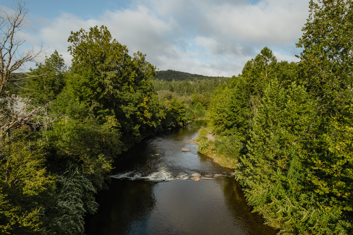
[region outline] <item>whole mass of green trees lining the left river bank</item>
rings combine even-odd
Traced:
[[[114,157],[197,118],[203,102],[169,90],[158,98],[156,67],[145,54],[130,56],[105,26],[71,32],[68,41],[70,67],[55,51],[26,74],[1,74],[1,234],[84,234]],[[14,93],[26,102],[22,113],[13,110]]]

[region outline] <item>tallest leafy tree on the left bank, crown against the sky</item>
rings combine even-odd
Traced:
[[[164,114],[153,87],[156,67],[140,52],[128,55],[126,46],[112,38],[106,26],[71,32],[68,51],[73,66],[92,67],[100,79],[104,109],[111,110],[121,124],[125,144],[131,145],[160,128]]]

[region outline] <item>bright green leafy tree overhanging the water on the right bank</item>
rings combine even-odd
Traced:
[[[303,215],[294,213],[292,206],[298,197],[306,197],[309,187],[303,182],[307,175],[303,145],[318,127],[315,103],[303,86],[283,87],[277,80],[264,90],[261,103],[235,176],[255,211],[271,220],[271,225],[280,223],[283,230],[295,233],[292,222]],[[297,221],[296,229],[304,233],[310,225],[314,226],[307,220]]]

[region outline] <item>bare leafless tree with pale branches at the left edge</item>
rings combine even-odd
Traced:
[[[18,113],[13,113],[9,103],[14,103],[11,97],[6,97],[4,88],[8,83],[23,79],[16,76],[25,74],[15,74],[26,62],[35,61],[44,52],[43,46],[35,50],[34,48],[21,51],[25,39],[19,38],[19,32],[23,31],[23,24],[26,23],[25,15],[28,10],[25,3],[17,1],[13,7],[13,14],[7,13],[0,8],[0,137],[11,128],[21,125],[36,110],[18,119]]]

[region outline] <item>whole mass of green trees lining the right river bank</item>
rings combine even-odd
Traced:
[[[212,146],[280,234],[352,234],[353,2],[310,1],[303,31],[299,63],[265,47],[214,91]]]

